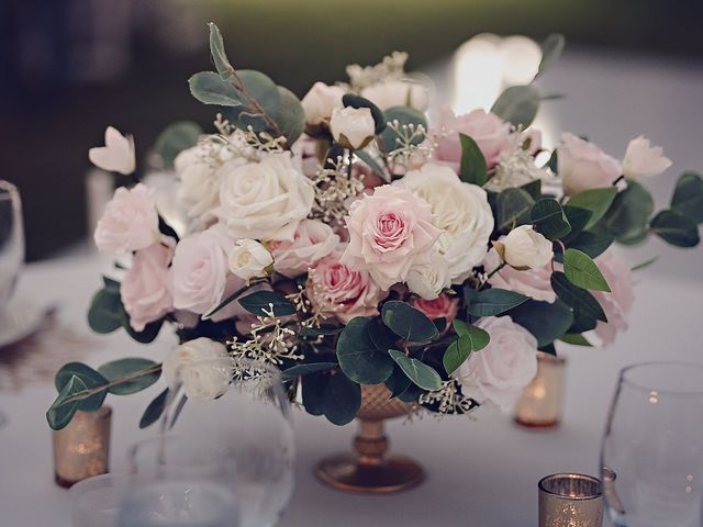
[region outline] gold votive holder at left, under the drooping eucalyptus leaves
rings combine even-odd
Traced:
[[[108,472],[112,408],[76,412],[65,428],[54,431],[56,483],[69,487],[86,478]]]

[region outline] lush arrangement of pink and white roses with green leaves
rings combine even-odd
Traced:
[[[119,281],[104,278],[89,324],[141,343],[168,325],[180,345],[163,363],[66,365],[53,428],[161,372],[172,388],[178,369],[189,397],[213,399],[232,379],[197,369],[217,357],[277,366],[291,399],[337,425],[354,419],[362,384],[442,414],[507,406],[539,350],[607,345],[626,326],[631,269],[613,243],[699,243],[700,176],[683,173],[654,214],[638,180],[671,165],[661,148],[640,136],[618,160],[563,134],[547,152],[529,126],[534,83],[507,88],[488,112],[433,109],[428,121],[428,92],[405,75],[404,54],[350,66],[347,82],[316,82],[299,100],[235,69],[214,24],[210,46],[216,71],[189,85],[219,106],[215,132],[177,123],[157,144],[183,226],[169,225],[134,176],[131,137],[109,127],[105,146],[90,150],[133,182],[94,233],[101,253],[129,264]],[[545,41],[537,77],[562,46],[558,35]],[[158,418],[167,392],[141,426]]]

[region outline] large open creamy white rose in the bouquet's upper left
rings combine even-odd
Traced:
[[[290,153],[272,154],[227,170],[214,213],[235,239],[292,240],[314,198],[312,182],[293,167]]]

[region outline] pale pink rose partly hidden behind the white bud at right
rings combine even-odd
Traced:
[[[491,272],[498,268],[500,264],[501,257],[495,249],[491,249],[483,259],[486,272]],[[491,277],[489,283],[494,288],[509,289],[535,300],[551,303],[557,300],[557,294],[554,292],[554,289],[551,289],[550,280],[551,266],[549,264],[544,267],[526,269],[524,271],[518,271],[511,266],[505,266]]]

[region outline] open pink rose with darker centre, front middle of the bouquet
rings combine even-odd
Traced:
[[[432,224],[432,209],[410,190],[386,184],[352,203],[346,217],[349,245],[342,262],[366,270],[388,290],[426,261],[442,231]]]

